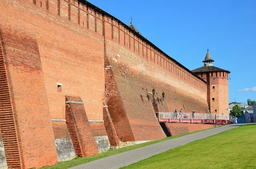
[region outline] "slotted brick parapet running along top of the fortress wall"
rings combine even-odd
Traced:
[[[160,69],[168,71],[169,74],[180,78],[185,83],[202,91],[207,89],[206,82],[202,78],[167,55],[125,23],[97,6],[85,0],[34,0],[33,2],[29,1],[29,4],[34,4],[48,15],[55,16],[55,18],[64,20],[66,23],[80,29],[87,29],[90,32],[103,35],[106,40],[112,40],[131,50],[147,62],[154,63]],[[58,21],[58,23],[60,22]]]

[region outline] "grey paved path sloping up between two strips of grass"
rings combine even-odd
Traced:
[[[117,155],[112,155],[106,158],[95,160],[89,163],[81,164],[70,169],[119,169],[120,167],[136,163],[152,155],[157,155],[169,149],[190,143],[195,140],[200,140],[205,137],[216,135],[229,129],[234,129],[244,124],[231,124],[227,126],[208,129],[202,132],[193,133],[183,137],[178,137],[172,140],[163,141],[160,143],[152,144],[150,146],[141,147],[128,152],[122,152]]]

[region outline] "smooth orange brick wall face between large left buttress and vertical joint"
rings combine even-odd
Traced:
[[[70,14],[68,3],[64,0],[49,0],[49,10],[44,6],[45,0],[42,0],[42,7],[40,2],[36,0],[34,5],[32,0],[1,0],[3,17],[0,23],[21,29],[35,37],[52,118],[63,119],[65,95],[76,95],[84,100],[89,120],[102,120],[104,44],[101,14],[97,13],[95,22],[89,20],[88,16],[91,14],[86,13],[87,7],[83,5],[80,5],[80,16],[83,14],[84,17],[71,17],[72,14],[78,14],[78,11],[74,12],[78,10],[76,1],[70,1],[70,6],[73,6]],[[84,26],[81,25],[81,20],[80,25],[78,24],[78,18],[87,20]],[[92,30],[86,28],[87,23],[93,25]],[[61,92],[57,90],[57,83],[63,85]]]

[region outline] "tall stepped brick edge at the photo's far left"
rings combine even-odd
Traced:
[[[6,66],[0,41],[0,131],[9,169],[21,169],[18,133],[15,126],[15,112],[12,109],[11,95],[7,81]],[[0,161],[2,162],[2,161]]]

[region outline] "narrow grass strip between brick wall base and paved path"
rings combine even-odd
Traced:
[[[197,131],[197,132],[200,132],[200,131]],[[191,132],[191,133],[195,133],[195,132]],[[166,138],[163,138],[161,140],[154,140],[154,141],[150,141],[150,142],[147,142],[147,143],[137,144],[135,146],[124,147],[124,148],[121,148],[121,149],[109,150],[108,152],[104,152],[104,153],[101,153],[99,155],[93,155],[93,156],[84,157],[84,158],[74,158],[73,160],[58,162],[56,165],[45,166],[41,169],[68,169],[70,167],[78,166],[80,164],[88,163],[90,161],[98,160],[98,159],[105,158],[105,157],[108,157],[108,156],[111,156],[111,155],[116,155],[116,154],[119,154],[121,152],[127,152],[129,150],[137,149],[137,148],[140,148],[140,147],[149,146],[151,144],[159,143],[159,142],[162,142],[162,141],[171,140],[171,139],[174,139],[174,138],[177,138],[177,137],[182,137],[184,135],[189,135],[191,133],[176,135],[176,136],[172,136],[172,137],[166,137]]]

